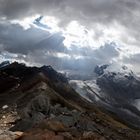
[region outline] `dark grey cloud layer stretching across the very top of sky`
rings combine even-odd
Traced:
[[[64,22],[130,22],[133,11],[139,11],[139,0],[0,0],[1,16],[23,18],[41,13],[62,17]],[[128,24],[128,23],[127,23]]]

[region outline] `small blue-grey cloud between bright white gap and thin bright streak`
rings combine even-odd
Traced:
[[[97,49],[92,49],[88,47],[72,46],[71,50],[65,50],[65,53],[70,55],[83,56],[84,58],[90,58],[92,60],[99,60],[102,62],[109,62],[109,60],[114,57],[119,56],[119,51],[117,50],[117,45],[115,43],[105,43]],[[98,61],[98,63],[99,63]]]

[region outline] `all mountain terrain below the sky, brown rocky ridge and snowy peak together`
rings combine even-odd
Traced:
[[[51,66],[1,63],[0,138],[8,129],[18,140],[139,140],[140,79],[108,67],[73,80]]]

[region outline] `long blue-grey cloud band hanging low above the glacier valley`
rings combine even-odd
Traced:
[[[78,46],[75,46],[75,50]],[[80,52],[71,52],[65,49],[63,52],[67,56],[57,56],[57,51],[46,53],[42,50],[37,50],[27,56],[25,61],[31,63],[37,63],[40,65],[51,65],[57,70],[77,70],[82,72],[93,72],[96,65],[110,64],[113,58],[119,56],[119,52],[116,46],[111,44],[105,44],[96,50],[90,48],[83,48]],[[85,52],[86,53],[83,53]],[[38,56],[38,57],[36,57]],[[80,56],[77,58],[77,56]]]

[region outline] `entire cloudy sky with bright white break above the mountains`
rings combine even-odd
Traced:
[[[140,72],[140,0],[0,0],[0,61]]]

